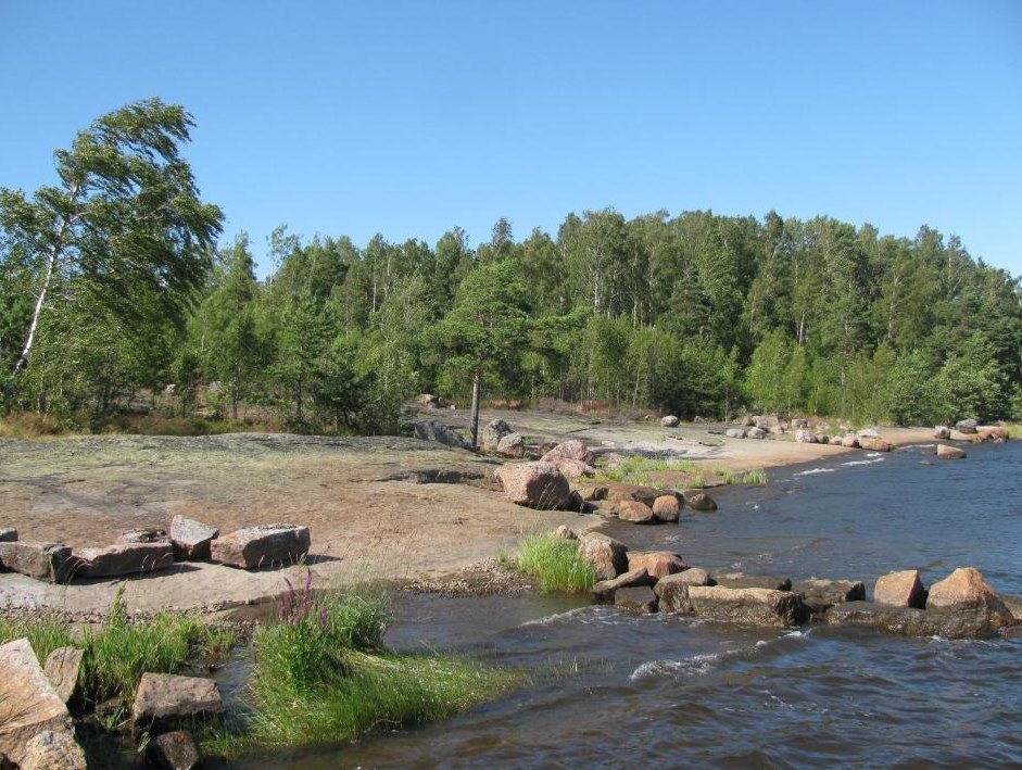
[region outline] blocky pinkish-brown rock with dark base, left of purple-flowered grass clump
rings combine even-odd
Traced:
[[[173,673],[143,673],[135,691],[131,724],[150,735],[190,727],[198,721],[219,722],[224,704],[212,679]]]

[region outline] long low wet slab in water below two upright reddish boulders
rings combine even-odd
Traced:
[[[916,609],[867,602],[847,602],[827,611],[829,626],[856,626],[899,636],[988,639],[999,626],[985,611],[970,608]]]

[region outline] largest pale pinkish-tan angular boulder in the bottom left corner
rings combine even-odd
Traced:
[[[15,765],[24,762],[28,742],[39,733],[74,729],[27,639],[0,646],[0,754]]]

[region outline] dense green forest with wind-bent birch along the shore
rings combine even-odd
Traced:
[[[607,207],[472,245],[280,226],[258,280],[244,232],[218,245],[191,126],[128,105],[55,153],[58,184],[0,191],[4,412],[89,426],[150,394],[386,432],[417,393],[467,405],[478,376],[489,400],[686,418],[1022,418],[1022,281],[931,227]]]

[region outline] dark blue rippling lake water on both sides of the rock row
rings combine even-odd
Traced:
[[[1022,594],[1022,442],[937,462],[855,453],[718,490],[678,527],[616,525],[718,570],[863,580],[977,567]],[[989,767],[1022,765],[1022,640],[901,639],[643,618],[557,596],[399,599],[389,643],[533,672],[426,728],[242,767]]]

